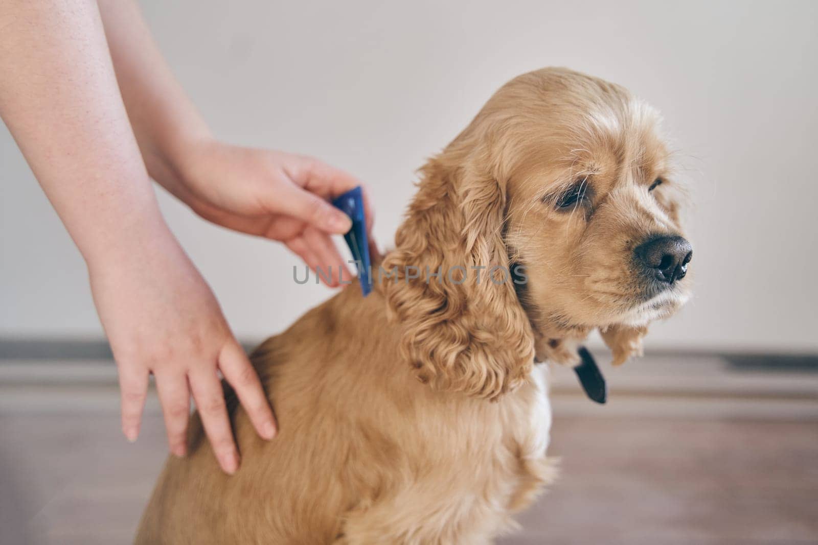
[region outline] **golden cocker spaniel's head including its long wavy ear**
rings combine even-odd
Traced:
[[[692,248],[657,123],[622,87],[542,69],[429,160],[384,261],[422,382],[497,397],[535,353],[573,364],[594,328],[621,363],[686,301]]]

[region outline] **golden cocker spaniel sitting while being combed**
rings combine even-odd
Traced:
[[[251,355],[276,439],[227,391],[240,469],[194,418],[137,543],[492,543],[555,475],[535,361],[577,364],[598,329],[621,364],[690,296],[682,196],[658,114],[622,87],[506,83],[420,169],[372,293]]]

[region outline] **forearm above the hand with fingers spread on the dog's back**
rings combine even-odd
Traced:
[[[4,0],[0,29],[0,116],[86,261],[166,230],[97,5]]]

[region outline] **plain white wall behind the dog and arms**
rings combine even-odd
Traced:
[[[565,65],[663,110],[693,188],[696,296],[650,346],[818,348],[818,2],[143,2],[223,138],[317,155],[371,187],[391,240],[413,170],[488,96]],[[83,262],[0,129],[0,335],[101,334]],[[275,243],[173,230],[241,337],[329,295]]]

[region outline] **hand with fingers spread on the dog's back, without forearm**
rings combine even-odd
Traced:
[[[192,393],[219,465],[229,474],[236,471],[239,453],[219,371],[258,435],[272,439],[276,424],[255,369],[205,280],[164,224],[123,241],[113,255],[88,261],[88,271],[119,369],[122,429],[128,440],[139,434],[153,373],[170,451],[186,453]]]

